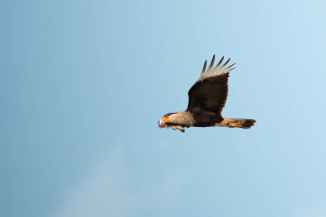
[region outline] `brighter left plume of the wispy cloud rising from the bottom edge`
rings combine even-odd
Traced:
[[[124,152],[120,150],[105,158],[67,192],[54,217],[128,216],[133,200],[121,186],[126,176]]]

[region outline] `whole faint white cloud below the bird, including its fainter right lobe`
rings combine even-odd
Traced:
[[[177,167],[163,167],[158,176],[148,175],[150,181],[133,182],[136,177],[142,177],[128,169],[125,151],[108,153],[67,192],[53,217],[124,217],[135,212],[155,213],[155,208],[172,207],[189,174]]]

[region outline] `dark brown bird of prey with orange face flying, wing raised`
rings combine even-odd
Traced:
[[[227,65],[224,56],[214,66],[215,54],[206,69],[204,62],[201,75],[188,91],[188,107],[178,113],[167,113],[159,120],[159,128],[172,128],[185,132],[189,127],[229,127],[251,128],[255,119],[226,118],[222,116],[228,95],[229,73],[235,69],[235,63]],[[214,66],[214,67],[213,67]]]

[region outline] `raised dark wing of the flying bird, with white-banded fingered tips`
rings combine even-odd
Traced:
[[[235,63],[227,66],[230,59],[222,64],[224,56],[213,68],[215,61],[215,55],[213,55],[211,64],[206,71],[205,61],[199,79],[188,91],[188,111],[195,107],[201,107],[221,114],[227,99],[228,74],[235,68],[233,67]]]

